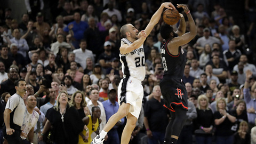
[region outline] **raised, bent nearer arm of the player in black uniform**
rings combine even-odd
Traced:
[[[193,20],[192,15],[190,14],[190,11],[188,10],[187,5],[177,4],[177,7],[182,7],[183,10],[185,11],[185,13],[187,14],[190,31],[180,37],[174,37],[172,40],[172,46],[174,46],[174,47],[179,47],[181,45],[187,44],[196,36],[196,33],[197,33],[195,21]]]

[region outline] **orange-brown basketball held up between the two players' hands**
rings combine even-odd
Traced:
[[[180,13],[177,10],[166,9],[163,13],[163,20],[168,25],[175,25],[180,20]]]

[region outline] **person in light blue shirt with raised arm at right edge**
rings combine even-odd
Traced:
[[[246,103],[246,111],[248,116],[248,123],[249,123],[249,129],[252,129],[253,126],[255,126],[254,119],[256,118],[256,89],[255,84],[251,87],[250,90],[250,78],[252,77],[252,71],[247,70],[246,71],[246,79],[244,82],[244,100]]]

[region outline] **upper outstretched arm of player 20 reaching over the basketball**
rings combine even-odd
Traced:
[[[145,33],[147,36],[151,33],[151,30],[154,26],[158,23],[159,19],[161,18],[161,14],[164,10],[164,7],[167,9],[176,9],[172,3],[162,3],[159,9],[153,14],[152,18],[150,19],[148,26],[145,29]]]

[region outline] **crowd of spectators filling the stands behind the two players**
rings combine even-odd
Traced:
[[[126,23],[132,23],[139,31],[145,29],[151,15],[161,3],[162,1],[149,0],[25,0],[27,13],[22,14],[21,21],[15,19],[19,16],[13,15],[9,7],[2,7],[2,106],[16,92],[15,81],[25,79],[26,94],[35,96],[37,108],[46,116],[41,126],[38,123],[34,130],[34,135],[37,136],[34,136],[33,142],[36,143],[39,135],[49,135],[44,130],[44,125],[47,123],[48,126],[55,121],[52,119],[55,111],[46,114],[47,109],[56,105],[58,95],[61,97],[61,93],[67,94],[71,103],[68,107],[74,106],[81,119],[84,118],[83,122],[87,125],[92,140],[118,109],[115,101],[117,97],[114,96],[123,78],[119,62],[122,38],[119,29]],[[173,0],[172,3],[176,5],[181,2]],[[178,143],[195,142],[192,135],[196,136],[198,143],[230,143],[233,139],[234,143],[250,143],[250,140],[256,143],[255,127],[253,128],[256,118],[256,2],[193,0],[182,3],[189,6],[196,22],[197,35],[182,46],[187,57],[182,81],[186,85],[191,109],[184,126],[186,131],[182,131],[180,136],[185,139]],[[183,15],[186,19],[186,14]],[[168,121],[168,118],[161,119],[152,115],[159,113],[147,104],[152,99],[162,102],[159,87],[153,89],[159,85],[164,75],[160,51],[163,38],[159,34],[162,23],[163,20],[159,20],[144,43],[147,69],[142,85],[145,97],[140,118],[131,135],[131,143],[145,140],[143,135],[153,139],[153,132],[164,134],[164,131],[158,129],[159,126],[153,125],[167,124],[163,121]],[[178,25],[179,22],[173,26],[174,29]],[[80,101],[77,102],[77,99]],[[162,112],[161,115],[165,114]],[[0,113],[2,127],[1,109]],[[165,116],[169,116],[167,112]],[[147,119],[147,130],[143,126],[144,117]],[[119,143],[124,123],[125,118],[116,124],[108,138],[105,138],[106,143]],[[64,134],[68,137],[67,133]],[[87,130],[84,130],[79,135],[79,143],[83,142],[86,134]],[[58,139],[44,141],[47,143]],[[223,142],[224,140],[227,141]]]

